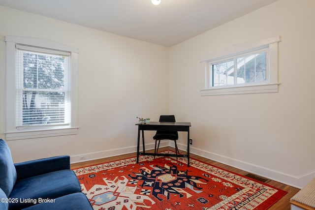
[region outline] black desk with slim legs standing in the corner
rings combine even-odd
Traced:
[[[173,156],[176,154],[155,154],[148,153],[145,151],[144,146],[144,131],[145,130],[160,130],[160,131],[184,131],[187,132],[187,154],[178,154],[178,157],[187,157],[188,166],[189,166],[189,127],[191,126],[190,122],[150,122],[147,124],[138,125],[138,143],[137,143],[137,163],[139,162],[139,155],[156,155],[156,156]],[[142,146],[143,152],[140,152],[140,131],[142,133]]]

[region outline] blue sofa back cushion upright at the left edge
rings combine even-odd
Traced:
[[[0,139],[0,188],[9,196],[16,181],[16,170],[9,146]]]

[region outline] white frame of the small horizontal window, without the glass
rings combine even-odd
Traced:
[[[280,36],[275,36],[259,41],[235,45],[201,58],[201,95],[207,96],[278,92],[278,42],[280,41]],[[261,49],[266,49],[267,51],[266,63],[268,66],[266,68],[267,78],[265,82],[212,86],[211,63],[217,63],[220,60],[226,60],[228,58],[237,57],[238,55],[255,52]]]

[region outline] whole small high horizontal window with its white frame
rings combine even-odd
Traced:
[[[278,42],[272,37],[201,59],[201,95],[278,92]]]

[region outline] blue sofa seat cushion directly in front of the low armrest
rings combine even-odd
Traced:
[[[75,192],[81,192],[81,186],[74,172],[68,169],[17,180],[9,198],[29,198],[31,202],[9,203],[9,209],[27,208],[39,199],[54,199]]]

